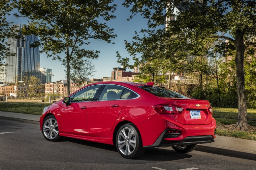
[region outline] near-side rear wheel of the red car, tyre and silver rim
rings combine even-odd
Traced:
[[[127,159],[138,158],[145,151],[139,130],[134,124],[125,124],[119,128],[116,135],[116,146],[119,154]]]

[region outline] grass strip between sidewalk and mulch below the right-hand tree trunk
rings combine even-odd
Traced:
[[[221,136],[229,136],[229,137],[236,137],[236,138],[241,138],[241,139],[256,140],[256,132],[223,130],[223,129],[217,128],[216,134],[221,135]]]

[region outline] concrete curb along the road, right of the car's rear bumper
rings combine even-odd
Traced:
[[[197,144],[195,151],[256,161],[255,152],[237,150],[237,149],[228,148],[228,147],[221,147],[221,146],[215,146],[215,145],[209,145],[209,144]]]

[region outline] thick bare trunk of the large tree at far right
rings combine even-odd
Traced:
[[[244,33],[241,30],[236,30],[236,84],[237,84],[237,100],[238,100],[238,122],[236,128],[240,130],[247,130],[247,108],[245,95],[245,73],[244,73],[244,54],[245,44],[243,41]]]

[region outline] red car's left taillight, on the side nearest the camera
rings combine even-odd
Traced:
[[[162,114],[181,114],[185,110],[183,107],[171,104],[158,104],[153,107],[157,113]]]

